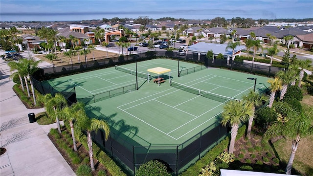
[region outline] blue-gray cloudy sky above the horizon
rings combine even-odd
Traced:
[[[0,0],[0,21],[313,18],[313,0]]]

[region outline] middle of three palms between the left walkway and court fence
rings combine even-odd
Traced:
[[[85,110],[84,110],[84,104],[81,102],[74,103],[70,107],[65,107],[62,111],[61,114],[68,120],[69,126],[70,126],[70,131],[72,134],[72,139],[73,139],[73,147],[74,151],[77,151],[77,146],[76,146],[76,139],[75,139],[75,133],[74,133],[74,124],[73,121],[78,119],[80,116],[84,115]]]

